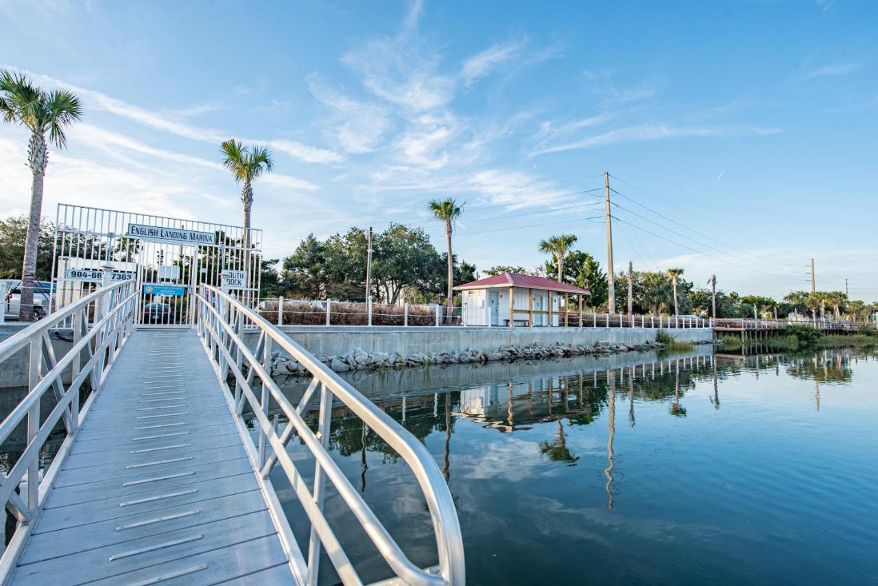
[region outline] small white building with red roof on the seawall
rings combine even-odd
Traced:
[[[454,289],[461,294],[467,326],[575,325],[589,294],[587,289],[514,272],[502,272]]]

